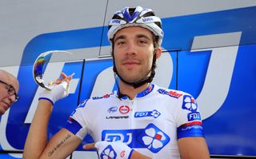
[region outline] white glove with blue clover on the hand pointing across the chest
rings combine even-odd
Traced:
[[[95,147],[98,149],[98,155],[101,159],[130,159],[134,151],[134,149],[130,149],[130,147],[122,141],[98,141]]]

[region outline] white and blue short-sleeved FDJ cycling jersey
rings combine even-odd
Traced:
[[[198,105],[188,93],[150,86],[133,100],[118,92],[83,101],[66,129],[83,139],[122,141],[152,158],[180,158],[178,139],[203,137]]]

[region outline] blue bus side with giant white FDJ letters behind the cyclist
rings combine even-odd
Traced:
[[[250,7],[162,19],[166,35],[162,47],[166,49],[166,53],[158,61],[154,83],[170,89],[181,89],[193,95],[204,120],[206,141],[211,154],[256,155],[256,127],[252,126],[256,117],[251,114],[256,103],[256,79],[253,74],[256,61],[256,22],[250,19],[250,15],[256,14],[255,12],[256,7]],[[235,20],[232,21],[234,17]],[[0,127],[1,132],[4,132],[0,134],[1,149],[23,149],[40,91],[31,74],[32,64],[38,54],[47,50],[72,52],[109,46],[106,26],[102,42],[101,37],[102,27],[95,27],[40,34],[31,39],[25,47],[18,68],[21,100],[1,117]],[[214,46],[215,43],[217,44]],[[174,46],[182,50],[170,51]],[[49,125],[50,137],[65,124],[79,102],[99,95],[95,93],[106,94],[116,88],[111,66],[110,59],[48,64],[45,78],[58,78],[62,71],[66,74],[75,72],[70,96],[54,106]],[[68,106],[64,108],[64,105]],[[225,115],[227,112],[230,114],[228,117]],[[238,120],[239,114],[248,115],[243,115]],[[194,115],[191,117],[195,117]],[[241,131],[241,125],[246,130],[246,136]],[[222,129],[222,132],[218,129]]]

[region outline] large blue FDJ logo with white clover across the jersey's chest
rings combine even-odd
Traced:
[[[131,148],[158,153],[168,144],[170,137],[154,124],[149,124],[144,129],[103,130],[102,141],[122,141]]]

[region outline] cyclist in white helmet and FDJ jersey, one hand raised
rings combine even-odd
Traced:
[[[188,93],[151,83],[162,54],[161,19],[150,9],[126,7],[109,23],[118,90],[83,101],[49,142],[54,101],[66,96],[64,79],[43,93],[26,139],[24,158],[65,158],[90,134],[100,158],[210,158],[198,105]]]

